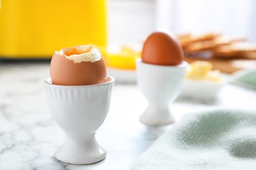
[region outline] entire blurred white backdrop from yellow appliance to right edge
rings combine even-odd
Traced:
[[[256,42],[255,0],[109,0],[110,44],[139,42],[152,31],[214,31]]]

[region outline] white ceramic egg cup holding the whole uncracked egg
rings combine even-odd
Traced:
[[[175,122],[169,105],[178,97],[188,63],[163,66],[136,60],[137,84],[148,101],[140,122],[150,126],[164,126]]]

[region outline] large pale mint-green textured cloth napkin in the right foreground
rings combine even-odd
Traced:
[[[187,114],[130,169],[256,169],[256,110]]]

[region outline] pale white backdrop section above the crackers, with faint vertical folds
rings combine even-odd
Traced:
[[[175,33],[214,31],[256,42],[255,0],[158,0],[157,25]]]

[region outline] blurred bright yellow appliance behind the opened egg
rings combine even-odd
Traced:
[[[106,1],[0,0],[0,58],[51,58],[77,44],[106,47]]]

